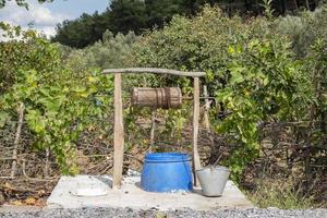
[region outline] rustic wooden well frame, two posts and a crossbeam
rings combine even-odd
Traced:
[[[194,185],[198,185],[195,170],[201,169],[199,155],[197,149],[198,120],[199,120],[199,77],[205,76],[205,72],[184,72],[158,68],[128,68],[128,69],[107,69],[104,74],[114,74],[113,90],[113,109],[114,109],[114,128],[113,128],[113,177],[112,187],[120,189],[122,184],[123,153],[124,153],[124,128],[122,114],[122,83],[123,73],[155,73],[169,74],[177,76],[193,77],[193,131],[192,131],[192,169],[194,175]],[[165,93],[165,92],[164,92]]]

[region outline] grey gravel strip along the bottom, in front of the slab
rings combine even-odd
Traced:
[[[282,209],[226,209],[226,210],[210,210],[196,211],[191,209],[158,211],[158,210],[135,210],[130,208],[81,208],[81,209],[41,209],[35,211],[0,211],[2,218],[32,218],[32,217],[60,217],[60,218],[98,218],[98,217],[154,217],[154,218],[169,218],[169,217],[187,217],[187,218],[327,218],[327,209],[305,209],[305,210],[282,210]]]

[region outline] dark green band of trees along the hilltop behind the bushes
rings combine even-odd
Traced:
[[[241,11],[254,12],[254,14],[269,12],[271,16],[272,12],[279,13],[278,5],[281,4],[280,1],[271,0],[113,0],[101,14],[83,14],[80,19],[59,24],[53,41],[83,48],[101,39],[106,29],[114,35],[126,34],[130,31],[140,35],[144,29],[164,27],[165,23],[169,23],[175,14],[193,16],[206,3],[220,5],[229,12],[229,15]],[[271,7],[271,10],[267,11],[267,7],[269,9]]]

